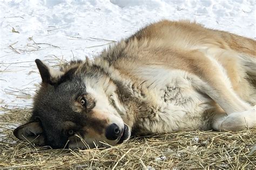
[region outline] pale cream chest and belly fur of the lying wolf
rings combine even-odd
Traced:
[[[193,88],[193,75],[156,66],[138,68],[132,74],[142,82],[136,89],[145,94],[139,100],[146,106],[140,107],[141,116],[135,125],[145,130],[141,133],[211,129],[210,110],[215,103]]]

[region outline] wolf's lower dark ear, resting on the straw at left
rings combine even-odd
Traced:
[[[14,135],[24,141],[29,141],[38,146],[45,145],[45,134],[39,122],[29,122],[14,130]]]

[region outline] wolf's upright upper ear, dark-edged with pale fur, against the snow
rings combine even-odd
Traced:
[[[64,74],[63,72],[60,72],[59,70],[55,70],[55,69],[47,66],[45,63],[43,63],[39,59],[36,59],[35,62],[36,62],[37,68],[39,70],[39,73],[42,77],[43,83],[47,83],[47,84],[56,83],[60,79],[60,77]]]

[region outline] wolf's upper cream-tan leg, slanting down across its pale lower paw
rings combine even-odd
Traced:
[[[195,89],[210,96],[228,115],[252,109],[249,103],[235,93],[226,70],[217,60],[201,51],[190,54],[193,59],[190,66],[196,75],[191,79]]]

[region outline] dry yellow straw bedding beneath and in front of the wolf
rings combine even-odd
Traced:
[[[93,150],[52,150],[18,141],[12,130],[30,110],[0,115],[0,168],[250,168],[256,165],[256,129],[172,132],[133,138]]]

